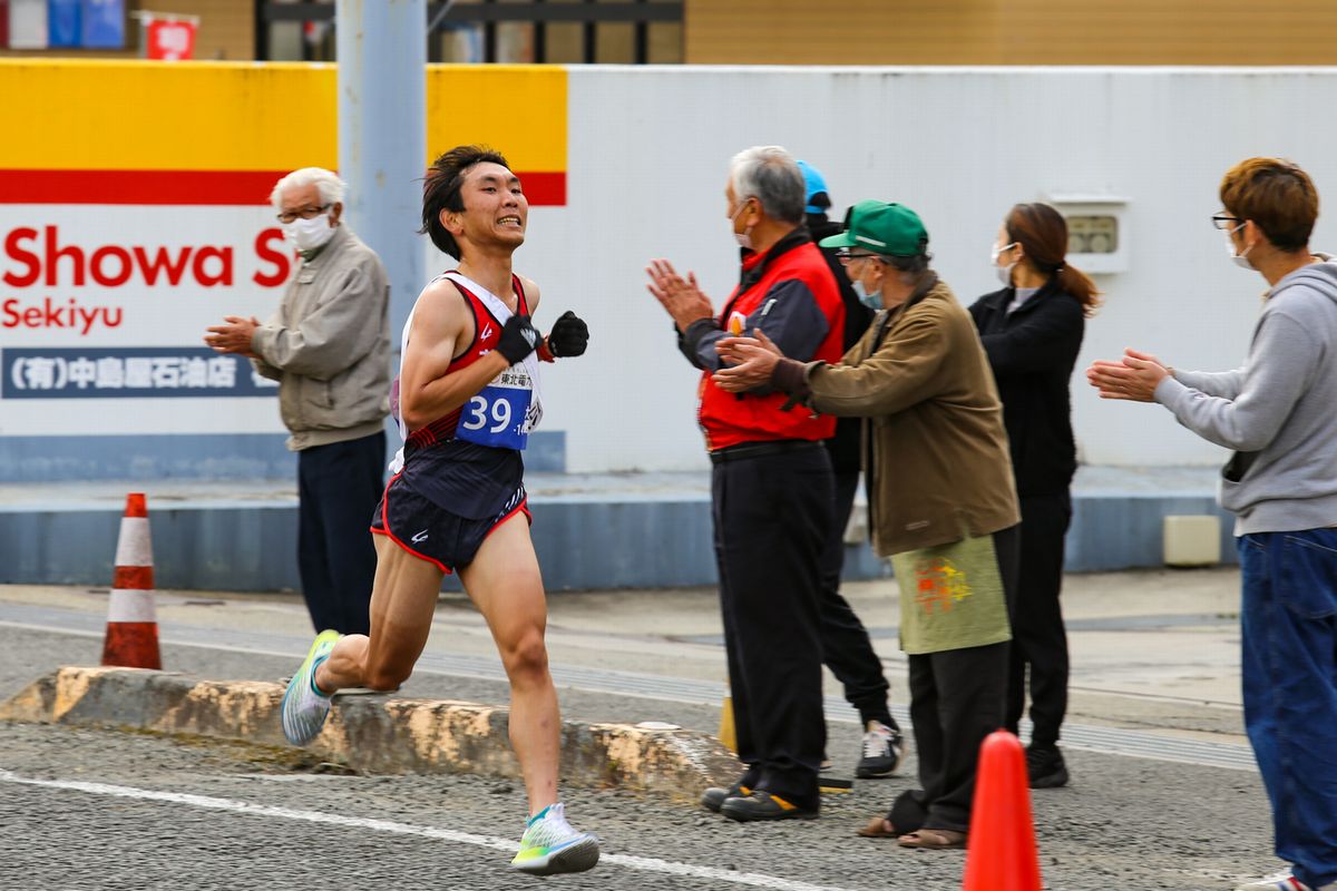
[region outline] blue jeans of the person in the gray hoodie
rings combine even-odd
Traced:
[[[1337,882],[1337,529],[1238,540],[1245,728],[1277,856]]]

